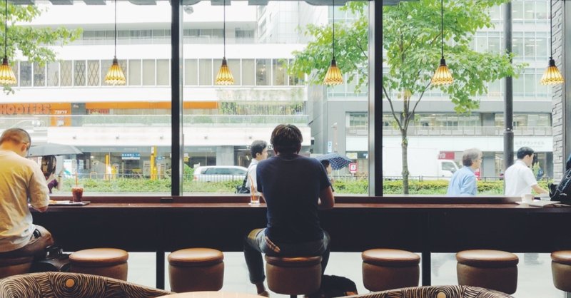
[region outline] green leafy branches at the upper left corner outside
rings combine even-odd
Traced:
[[[4,24],[6,21],[6,11],[1,9],[1,39],[4,41]],[[68,30],[65,28],[35,28],[33,26],[20,26],[14,24],[30,23],[40,16],[42,11],[35,5],[13,5],[8,4],[8,48],[6,55],[11,66],[15,65],[16,54],[24,57],[30,63],[39,63],[40,66],[56,60],[56,51],[50,46],[63,46],[70,41],[74,41],[81,34],[81,29]],[[2,57],[4,57],[4,46],[2,46]],[[4,92],[14,93],[10,86],[3,86]]]

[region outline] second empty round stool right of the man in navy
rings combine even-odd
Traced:
[[[458,284],[515,293],[516,255],[501,250],[464,250],[456,254],[456,260]]]

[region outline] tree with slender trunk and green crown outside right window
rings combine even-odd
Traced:
[[[512,64],[512,55],[501,52],[477,52],[470,48],[475,32],[494,26],[488,11],[509,0],[454,0],[444,3],[444,55],[453,73],[454,83],[433,86],[430,79],[440,64],[440,1],[401,1],[383,6],[383,101],[388,101],[401,135],[403,155],[403,192],[408,194],[408,127],[426,91],[439,88],[449,96],[456,113],[470,113],[479,107],[476,96],[487,93],[487,83],[515,76],[525,64]],[[348,81],[359,73],[356,91],[365,86],[368,63],[368,16],[365,3],[348,3],[360,18],[355,26],[335,23],[335,58]],[[320,84],[330,59],[330,26],[308,26],[305,34],[313,41],[294,52],[290,73],[308,73],[308,83]],[[338,33],[339,32],[339,33]],[[395,104],[402,103],[402,111]]]

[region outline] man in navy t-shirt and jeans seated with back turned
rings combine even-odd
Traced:
[[[248,234],[244,256],[250,281],[264,296],[268,292],[263,284],[262,252],[286,257],[321,255],[322,272],[329,259],[329,235],[321,229],[318,209],[332,208],[335,200],[319,160],[298,155],[302,141],[295,125],[278,125],[271,135],[276,156],[256,168],[258,191],[268,207],[268,225]]]

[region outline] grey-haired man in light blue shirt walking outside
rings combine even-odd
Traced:
[[[450,197],[476,195],[475,171],[482,165],[482,151],[477,148],[465,150],[462,154],[462,164],[464,166],[450,178],[448,192],[446,192],[446,195]]]

